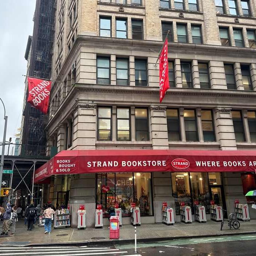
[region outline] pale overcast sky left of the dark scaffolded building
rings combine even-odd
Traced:
[[[27,61],[24,58],[28,36],[33,34],[36,0],[0,0],[0,97],[8,116],[6,140],[20,127],[24,77]],[[0,102],[0,141],[3,141],[4,108]],[[0,147],[0,150],[2,148]]]

